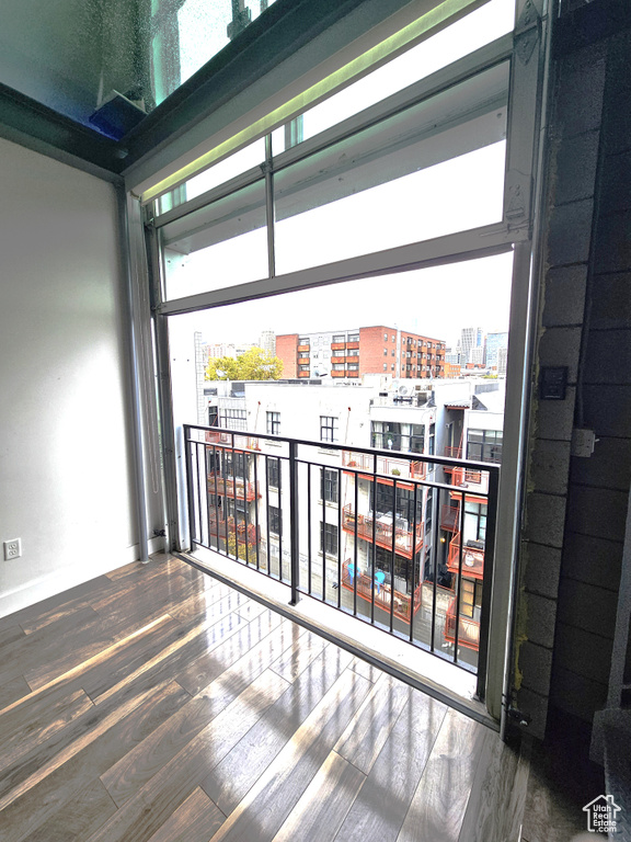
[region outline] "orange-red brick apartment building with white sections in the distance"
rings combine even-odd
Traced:
[[[318,333],[276,337],[284,377],[359,380],[364,374],[392,377],[444,377],[445,342],[378,325]]]

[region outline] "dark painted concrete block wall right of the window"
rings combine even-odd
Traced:
[[[567,366],[569,388],[532,402],[513,699],[540,738],[551,707],[589,727],[609,680],[631,480],[629,55],[627,31],[554,67],[535,371]],[[574,428],[595,431],[592,457],[572,455]]]

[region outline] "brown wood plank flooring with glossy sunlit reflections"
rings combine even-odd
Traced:
[[[537,842],[530,803],[583,829],[493,731],[179,559],[0,618],[1,842]]]

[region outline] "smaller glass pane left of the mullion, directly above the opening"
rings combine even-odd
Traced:
[[[165,298],[267,276],[264,182],[162,228]]]

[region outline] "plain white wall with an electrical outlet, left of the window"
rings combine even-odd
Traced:
[[[0,615],[136,556],[111,184],[0,139]]]

